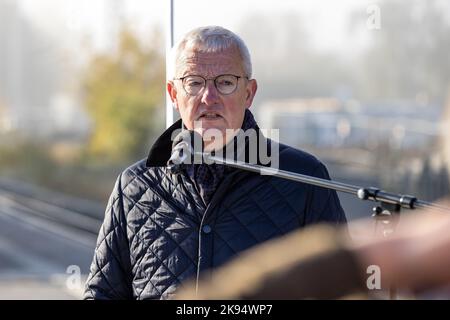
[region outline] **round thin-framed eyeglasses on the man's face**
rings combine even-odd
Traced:
[[[203,78],[202,76],[192,75],[182,78],[176,78],[174,80],[181,80],[186,93],[191,96],[196,96],[205,88],[206,82],[208,80],[213,80],[214,86],[216,87],[217,91],[219,91],[219,93],[223,95],[232,94],[234,91],[236,91],[239,78],[248,79],[248,77],[240,77],[233,74],[222,74],[210,79]]]

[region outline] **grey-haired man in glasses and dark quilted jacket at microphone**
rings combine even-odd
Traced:
[[[317,222],[346,222],[336,193],[327,189],[217,164],[169,171],[177,129],[203,138],[208,130],[218,131],[220,147],[233,141],[238,129],[259,131],[248,110],[257,83],[237,35],[221,27],[195,29],[175,47],[174,60],[167,90],[181,120],[158,138],[146,160],[119,176],[86,283],[87,299],[170,298],[185,280],[198,280],[263,241]],[[205,139],[208,150],[218,150],[216,140]],[[305,152],[280,145],[277,155],[280,169],[329,178],[325,166]]]

